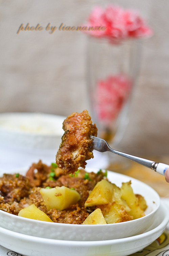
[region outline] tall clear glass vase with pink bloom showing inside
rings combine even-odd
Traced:
[[[90,114],[97,125],[98,137],[116,150],[122,143],[128,123],[140,58],[141,41],[138,39],[111,42],[89,37],[87,76]],[[121,157],[112,153],[107,155],[109,164],[118,166],[118,169],[126,165],[122,164],[125,160]]]

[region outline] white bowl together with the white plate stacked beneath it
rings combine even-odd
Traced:
[[[115,224],[75,225],[42,222],[0,211],[0,244],[27,256],[125,256],[145,248],[165,229],[168,209],[145,183],[113,172],[108,172],[107,177],[117,186],[131,180],[134,193],[144,196],[147,202],[144,217]]]

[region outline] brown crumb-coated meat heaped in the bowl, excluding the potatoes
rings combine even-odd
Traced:
[[[52,166],[47,166],[39,161],[32,164],[26,173],[27,177],[21,174],[19,176],[17,174],[4,174],[3,177],[0,177],[0,210],[18,215],[21,209],[34,203],[53,222],[82,224],[89,215],[88,209],[84,207],[84,203],[96,183],[104,178],[104,173],[99,172],[96,174],[91,172],[88,179],[85,179],[86,171],[83,169],[80,169],[75,177],[61,173],[57,176],[57,168],[55,170],[55,181],[53,181],[49,179],[49,171],[51,169]],[[63,211],[56,209],[47,210],[39,191],[41,187],[45,188],[49,185],[51,188],[55,186],[74,188],[80,194],[80,200],[76,204],[71,204],[69,208]]]

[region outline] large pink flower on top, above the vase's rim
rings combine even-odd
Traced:
[[[105,9],[96,6],[88,18],[89,27],[106,27],[105,30],[85,31],[91,36],[122,40],[127,38],[148,37],[153,34],[150,27],[134,10],[108,5]]]

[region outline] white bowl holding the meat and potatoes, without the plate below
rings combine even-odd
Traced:
[[[122,182],[131,180],[134,193],[144,196],[147,202],[146,216],[114,224],[77,225],[42,222],[0,211],[0,227],[31,236],[72,241],[118,239],[145,232],[157,218],[157,210],[160,206],[159,195],[150,186],[134,178],[110,171],[107,177],[118,186],[121,186]]]

